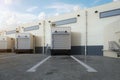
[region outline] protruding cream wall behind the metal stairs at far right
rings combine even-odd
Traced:
[[[115,41],[120,45],[120,19],[104,28],[104,56],[118,57],[118,54],[109,50],[109,41]]]

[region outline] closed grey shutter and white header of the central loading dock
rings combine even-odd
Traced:
[[[70,28],[52,28],[52,49],[71,49]]]

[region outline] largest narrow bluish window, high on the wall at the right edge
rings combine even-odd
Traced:
[[[117,16],[117,15],[120,15],[120,8],[105,11],[105,12],[100,12],[100,18],[107,18],[107,17]]]

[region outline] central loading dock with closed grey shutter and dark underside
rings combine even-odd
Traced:
[[[71,29],[70,27],[52,27],[51,30],[51,54],[70,54],[71,50]]]

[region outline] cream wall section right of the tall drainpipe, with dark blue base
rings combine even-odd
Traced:
[[[104,48],[104,28],[114,24],[116,20],[120,19],[120,15],[100,18],[100,13],[104,11],[114,10],[120,8],[120,2],[112,2],[98,7],[87,9],[87,45],[89,54],[99,54]],[[98,11],[95,13],[95,11]],[[108,29],[109,31],[109,29]],[[92,47],[93,46],[93,47]],[[98,47],[98,48],[95,48]],[[102,52],[103,53],[103,52]]]

